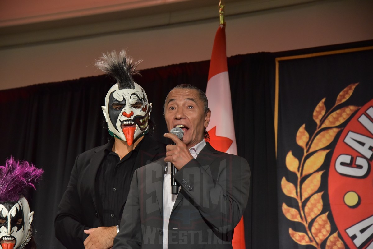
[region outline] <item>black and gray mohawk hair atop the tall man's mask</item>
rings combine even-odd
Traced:
[[[134,89],[135,81],[132,75],[139,74],[135,69],[140,62],[142,60],[132,63],[132,57],[126,57],[126,50],[122,50],[119,54],[116,51],[103,54],[95,65],[107,75],[115,78],[119,89]]]

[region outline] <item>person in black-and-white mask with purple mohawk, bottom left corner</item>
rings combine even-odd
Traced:
[[[35,249],[32,229],[34,212],[25,196],[35,189],[43,170],[13,157],[0,166],[0,245],[1,249]]]

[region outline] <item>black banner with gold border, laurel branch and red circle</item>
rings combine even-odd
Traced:
[[[373,47],[277,72],[280,248],[373,248]]]

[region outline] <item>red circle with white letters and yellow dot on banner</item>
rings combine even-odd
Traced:
[[[373,100],[344,128],[330,161],[333,219],[349,248],[373,246]]]

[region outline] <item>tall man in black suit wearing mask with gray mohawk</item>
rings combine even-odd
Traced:
[[[108,53],[96,63],[117,80],[102,106],[113,138],[75,160],[54,223],[66,248],[111,248],[134,171],[165,154],[165,146],[148,134],[152,104],[132,78],[138,63],[125,51]]]

